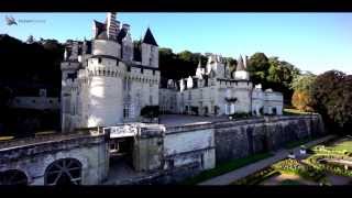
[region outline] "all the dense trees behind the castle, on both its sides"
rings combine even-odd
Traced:
[[[21,125],[23,120],[10,111],[9,102],[14,96],[36,96],[38,88],[47,88],[47,95],[58,97],[61,91],[59,63],[64,55],[64,44],[55,40],[35,41],[29,36],[22,42],[7,34],[0,35],[0,132],[7,121],[16,120],[12,125]],[[230,69],[235,69],[237,61],[224,57]],[[160,48],[160,69],[163,80],[180,79],[195,75],[199,61],[205,66],[207,57],[200,53],[184,51],[174,53],[170,48]],[[267,57],[257,52],[250,56],[248,70],[254,84],[272,88],[284,95],[285,107],[294,106],[301,111],[316,111],[334,131],[346,131],[352,123],[352,76],[338,70],[329,70],[319,76],[302,74],[296,66]],[[33,116],[35,112],[25,112]],[[37,113],[38,118],[50,113]],[[45,121],[44,123],[48,123]],[[42,124],[45,125],[45,124]],[[51,125],[51,124],[47,124]],[[48,128],[48,127],[47,127]],[[43,128],[45,129],[45,128]],[[339,130],[336,130],[339,129]]]

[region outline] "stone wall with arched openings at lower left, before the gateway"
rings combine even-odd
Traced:
[[[25,143],[9,143],[0,148],[0,173],[16,169],[26,175],[29,185],[44,185],[46,168],[53,162],[64,158],[79,161],[82,185],[100,184],[109,170],[107,136],[52,135],[28,140]]]

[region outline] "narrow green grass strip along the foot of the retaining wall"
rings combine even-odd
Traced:
[[[205,172],[201,172],[199,175],[188,178],[185,182],[183,182],[183,185],[196,185],[198,183],[201,183],[204,180],[210,179],[212,177],[219,176],[219,175],[223,175],[226,173],[229,173],[231,170],[241,168],[245,165],[255,163],[257,161],[267,158],[273,156],[271,153],[261,153],[261,154],[254,154],[244,158],[238,158],[238,160],[233,160],[227,163],[222,163],[217,165],[217,167],[212,168],[212,169],[208,169]]]

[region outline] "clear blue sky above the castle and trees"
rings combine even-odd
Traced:
[[[6,15],[19,25],[8,26]],[[174,52],[188,50],[238,58],[264,52],[321,74],[339,69],[352,74],[352,13],[120,13],[133,38],[151,28],[156,42]],[[92,20],[106,13],[0,13],[0,33],[25,41],[91,38]],[[22,20],[22,22],[21,22]],[[23,20],[33,20],[24,22]]]

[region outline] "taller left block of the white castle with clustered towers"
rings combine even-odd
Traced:
[[[116,125],[158,105],[158,46],[150,29],[133,44],[130,25],[108,13],[94,38],[73,42],[62,63],[62,128]]]

